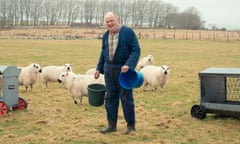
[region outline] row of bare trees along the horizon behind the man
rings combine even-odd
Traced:
[[[204,28],[196,8],[179,12],[161,0],[0,0],[0,27],[102,26],[107,11],[131,27]]]

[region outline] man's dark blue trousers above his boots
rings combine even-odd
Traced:
[[[121,87],[119,84],[120,70],[105,68],[104,76],[106,82],[105,108],[109,122],[117,123],[119,100],[121,100],[124,118],[127,126],[135,127],[135,110],[133,91]]]

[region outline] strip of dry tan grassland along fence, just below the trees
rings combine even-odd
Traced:
[[[0,29],[0,39],[101,39],[104,28]],[[239,41],[239,31],[134,29],[139,39]]]

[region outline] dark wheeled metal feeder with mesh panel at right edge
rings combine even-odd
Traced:
[[[200,105],[191,115],[198,119],[207,113],[240,117],[240,68],[208,68],[199,73]]]

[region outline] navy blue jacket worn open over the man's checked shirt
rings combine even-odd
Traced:
[[[140,46],[135,32],[127,26],[121,27],[118,35],[118,45],[112,62],[109,61],[108,35],[109,31],[106,31],[103,35],[102,51],[97,64],[97,70],[103,74],[104,67],[108,67],[108,65],[116,69],[127,65],[134,70],[140,57]]]

